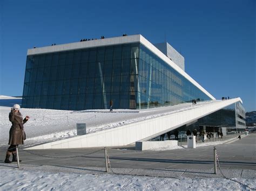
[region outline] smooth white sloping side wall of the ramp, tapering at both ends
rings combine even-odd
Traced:
[[[196,119],[209,115],[217,110],[227,107],[235,102],[242,102],[240,98],[226,101],[210,102],[202,107],[185,111],[177,111],[169,115],[146,119],[118,128],[99,131],[96,133],[58,140],[56,142],[33,146],[27,149],[48,148],[82,148],[103,146],[124,146],[140,140],[149,140],[165,132],[191,123]]]

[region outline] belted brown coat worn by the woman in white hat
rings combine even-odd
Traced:
[[[21,113],[11,111],[9,113],[9,120],[12,124],[9,131],[9,145],[23,145],[23,124],[28,120],[26,118],[22,119]]]

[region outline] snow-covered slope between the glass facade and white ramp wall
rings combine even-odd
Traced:
[[[12,97],[9,98],[13,102]],[[87,133],[93,133],[195,107],[203,107],[212,102],[218,101],[198,102],[197,105],[183,103],[169,107],[140,110],[113,109],[113,112],[109,112],[109,110],[67,111],[26,108],[22,108],[20,111],[23,117],[30,116],[30,120],[24,125],[27,137],[25,145],[30,146],[76,136],[76,123],[86,123]],[[0,147],[6,146],[8,142],[11,126],[8,118],[9,112],[10,107],[0,105]]]

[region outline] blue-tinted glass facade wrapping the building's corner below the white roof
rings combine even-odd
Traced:
[[[28,55],[23,108],[141,109],[211,98],[140,43]]]

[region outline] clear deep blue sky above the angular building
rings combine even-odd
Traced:
[[[22,95],[26,52],[82,38],[142,34],[169,42],[185,70],[215,98],[255,103],[254,0],[0,1],[0,95]]]

